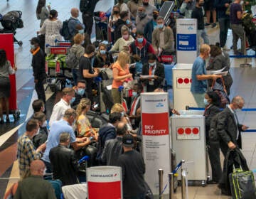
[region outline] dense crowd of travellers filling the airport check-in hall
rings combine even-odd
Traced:
[[[181,2],[180,12],[185,18],[198,19],[198,41],[203,38],[203,45],[198,43],[198,58],[193,63],[191,92],[198,107],[206,107],[206,143],[209,146],[210,163],[213,170],[212,183],[221,180],[221,167],[219,149],[226,154],[228,149],[240,147],[240,131],[247,129],[240,125],[235,110],[244,105],[242,97],[235,97],[228,107],[220,112],[220,97],[216,92],[208,92],[208,85],[218,82],[221,75],[206,75],[206,59],[210,56],[207,66],[208,70],[219,70],[230,68],[228,55],[223,50],[225,46],[229,19],[233,31],[233,49],[237,49],[238,38],[243,41],[241,15],[242,6],[240,0],[231,1],[216,0],[208,1],[205,5],[207,21],[204,23],[203,0],[184,0]],[[247,1],[246,1],[247,2]],[[79,183],[78,160],[81,151],[87,147],[95,146],[95,166],[121,166],[123,176],[124,198],[144,198],[145,186],[143,175],[145,164],[142,158],[141,143],[141,121],[140,121],[140,94],[142,92],[162,92],[164,82],[164,65],[159,62],[158,56],[163,53],[175,52],[175,36],[171,27],[166,26],[164,16],[159,16],[159,10],[149,0],[118,0],[112,8],[109,23],[111,41],[113,43],[110,52],[107,45],[100,43],[95,52],[90,36],[93,25],[93,11],[97,1],[80,1],[82,12],[82,23],[79,21],[79,9],[70,10],[68,20],[68,31],[70,48],[78,60],[74,65],[73,87],[65,87],[62,97],[53,107],[47,128],[46,118],[46,95],[43,89],[43,80],[46,78],[45,53],[42,41],[39,38],[31,39],[31,53],[33,55],[33,76],[38,94],[38,99],[33,102],[34,114],[26,123],[26,132],[18,139],[18,163],[22,181],[18,183],[16,197],[28,194],[26,185],[36,182],[38,187],[46,187],[48,183],[35,180],[36,176],[53,173],[54,179],[60,179],[63,185]],[[230,7],[230,16],[226,10]],[[209,39],[206,26],[210,26],[210,14],[213,15],[212,28],[216,27],[216,16],[220,26],[220,44],[208,45]],[[45,43],[55,45],[55,39],[62,40],[60,30],[63,23],[58,19],[58,11],[46,6],[45,0],[39,0],[36,8],[36,16],[41,20],[41,29],[38,33],[44,35]],[[243,49],[243,45],[242,45]],[[243,51],[242,51],[243,52]],[[118,53],[114,60],[112,53]],[[134,69],[135,63],[141,68]],[[101,68],[112,70],[111,97],[113,106],[109,114],[109,122],[100,129],[92,127],[87,113],[95,111],[95,77],[99,77]],[[2,101],[6,102],[6,113],[8,113],[9,82],[8,75],[13,74],[12,69],[4,51],[0,51],[0,124],[4,123],[2,117]],[[128,109],[122,105],[122,95],[119,87],[124,82],[131,82],[140,73],[149,75],[149,78],[139,77],[138,82],[132,86],[132,97]],[[227,94],[230,94],[232,77],[224,78]],[[170,109],[171,114],[178,114],[175,109]],[[208,136],[212,124],[212,118],[218,115],[217,129],[220,139],[213,141]],[[227,124],[228,120],[228,125]],[[6,122],[9,118],[6,117]],[[218,152],[218,153],[217,153]],[[92,155],[92,154],[90,154]],[[92,156],[91,156],[92,158]],[[41,160],[41,161],[39,161]],[[132,160],[132,161],[131,161]],[[41,178],[40,177],[40,178]],[[136,181],[137,183],[134,183]],[[25,190],[26,189],[26,190]],[[44,189],[44,188],[42,188]],[[225,190],[223,189],[223,193]],[[48,195],[52,196],[49,189]],[[39,196],[38,196],[39,197]]]

